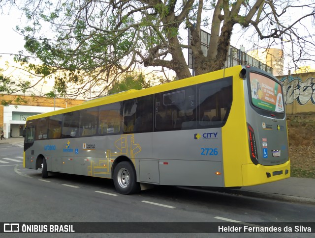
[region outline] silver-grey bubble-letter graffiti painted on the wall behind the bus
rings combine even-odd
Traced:
[[[284,103],[291,104],[294,100],[300,105],[309,101],[315,104],[315,78],[308,78],[304,82],[299,77],[284,77],[280,79],[284,87]]]

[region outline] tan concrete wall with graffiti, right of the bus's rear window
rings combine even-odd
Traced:
[[[315,112],[315,72],[278,76],[287,114]]]

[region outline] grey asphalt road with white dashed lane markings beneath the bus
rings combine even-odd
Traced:
[[[122,232],[126,232],[125,222],[246,222],[250,225],[255,222],[315,222],[313,205],[177,186],[157,186],[138,194],[121,195],[115,191],[111,180],[65,174],[42,179],[40,171],[23,168],[22,156],[21,146],[0,145],[0,222],[118,222],[122,224]],[[7,234],[1,235],[7,237]],[[30,237],[28,234],[15,235]],[[47,235],[36,234],[35,237]],[[72,235],[118,237],[117,234]],[[229,235],[244,236],[216,234],[216,237]],[[288,237],[288,234],[268,234],[268,237],[273,235]],[[51,236],[64,237],[64,234]],[[161,234],[141,236],[161,237]],[[256,236],[266,237],[266,234]],[[292,235],[304,236],[309,237],[309,234]],[[164,234],[162,237],[192,236]],[[209,234],[193,237],[209,237]]]

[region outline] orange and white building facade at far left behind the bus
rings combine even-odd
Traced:
[[[4,132],[4,137],[23,136],[26,118],[39,113],[59,110],[62,108],[80,105],[84,100],[46,98],[20,96],[27,103],[14,103],[16,96],[0,95],[1,100],[12,102],[8,106],[0,106],[0,130]]]

